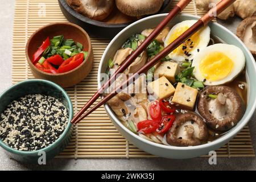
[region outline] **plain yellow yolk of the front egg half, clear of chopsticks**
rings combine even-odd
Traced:
[[[200,72],[209,81],[218,81],[232,71],[233,61],[222,52],[211,52],[200,61]]]

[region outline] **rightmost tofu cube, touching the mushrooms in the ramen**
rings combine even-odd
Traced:
[[[197,93],[197,89],[179,82],[176,86],[176,91],[174,93],[174,97],[172,98],[172,102],[192,110],[196,102]]]

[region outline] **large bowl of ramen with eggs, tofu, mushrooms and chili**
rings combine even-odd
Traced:
[[[115,36],[101,59],[99,87],[166,15],[138,20]],[[177,15],[104,94],[197,19]],[[105,109],[118,131],[138,148],[164,158],[193,158],[217,150],[249,122],[256,106],[255,76],[255,61],[241,40],[210,23],[119,90]]]

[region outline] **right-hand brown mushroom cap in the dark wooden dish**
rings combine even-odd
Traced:
[[[117,8],[129,16],[142,16],[157,13],[163,5],[163,0],[115,0]]]

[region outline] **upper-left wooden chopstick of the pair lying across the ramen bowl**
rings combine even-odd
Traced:
[[[109,80],[101,86],[99,90],[93,95],[92,98],[82,107],[82,109],[75,115],[75,117],[72,119],[72,123],[75,123],[75,121],[90,107],[90,105],[93,104],[101,96],[101,93],[104,92],[106,88],[108,88],[108,85],[115,80],[115,77],[119,74],[125,71],[126,68],[129,67],[131,63],[148,47],[148,45],[152,42],[152,40],[155,39],[155,37],[163,30],[163,28],[172,20],[177,14],[179,14],[184,7],[186,7],[189,2],[192,0],[181,0],[177,3],[177,5],[170,11],[170,13],[162,20],[161,23],[158,24],[158,26],[154,29],[154,31],[151,32],[151,34],[142,42],[142,44],[133,52],[131,55],[123,61],[123,64],[115,71],[115,73],[109,78]]]

